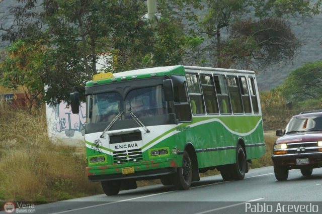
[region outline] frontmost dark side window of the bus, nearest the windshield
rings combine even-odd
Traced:
[[[191,121],[191,109],[188,102],[186,83],[174,87],[175,112],[178,122]]]

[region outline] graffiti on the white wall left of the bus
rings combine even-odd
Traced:
[[[53,130],[57,133],[65,132],[67,137],[73,137],[75,132],[81,132],[85,135],[86,122],[86,104],[82,103],[79,106],[79,114],[72,114],[71,108],[66,108],[66,102],[61,102],[56,106],[51,106],[55,114],[53,122]]]

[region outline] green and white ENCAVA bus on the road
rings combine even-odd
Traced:
[[[100,73],[87,82],[89,181],[107,195],[160,179],[188,189],[218,169],[241,180],[265,153],[254,71],[167,66]],[[70,94],[73,113],[79,92]]]

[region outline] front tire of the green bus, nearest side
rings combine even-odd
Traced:
[[[182,157],[182,167],[178,167],[177,173],[174,174],[173,182],[178,189],[186,190],[191,186],[192,165],[189,154],[184,151]]]

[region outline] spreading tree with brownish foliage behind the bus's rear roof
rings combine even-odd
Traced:
[[[320,5],[320,0],[206,1],[200,32],[213,41],[213,66],[252,68],[292,59],[302,42],[286,18],[303,20],[318,14]]]

